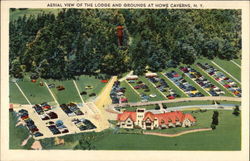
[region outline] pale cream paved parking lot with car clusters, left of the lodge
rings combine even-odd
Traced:
[[[102,120],[97,119],[85,104],[69,105],[74,106],[70,107],[72,111],[69,108],[70,112],[47,103],[16,105],[13,109],[34,139],[101,130],[99,125]]]

